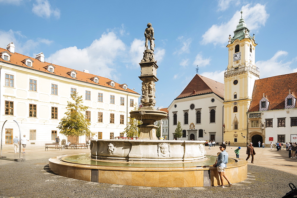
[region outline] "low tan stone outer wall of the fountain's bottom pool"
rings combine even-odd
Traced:
[[[61,161],[63,157],[65,156],[50,158],[50,170],[57,175],[78,180],[151,187],[200,187],[219,184],[217,168],[212,166],[166,167],[164,164],[162,167],[98,166],[64,162]],[[228,163],[225,170],[226,175],[232,183],[244,181],[247,178],[247,161],[231,159],[233,159],[231,164]]]

